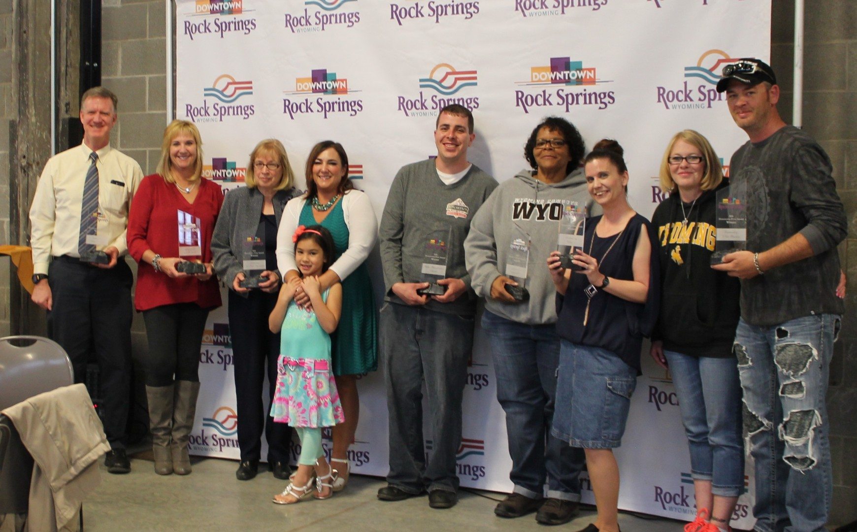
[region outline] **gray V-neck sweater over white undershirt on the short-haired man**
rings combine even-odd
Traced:
[[[393,294],[393,284],[422,282],[426,244],[432,236],[442,234],[448,238],[446,278],[462,279],[467,291],[454,302],[429,300],[426,308],[447,314],[476,312],[476,294],[464,267],[464,238],[473,215],[496,187],[494,178],[475,164],[452,185],[440,181],[433,159],[399,170],[378,230],[386,301],[404,304]]]

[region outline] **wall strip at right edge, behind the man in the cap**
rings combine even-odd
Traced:
[[[784,89],[779,106],[786,122],[794,101],[794,2],[774,0],[771,66]],[[857,519],[857,2],[806,3],[803,126],[833,161],[848,239],[839,247],[848,273],[842,332],[830,364],[830,452],[833,459],[832,523]]]

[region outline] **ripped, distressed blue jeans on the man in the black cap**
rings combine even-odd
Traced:
[[[758,532],[823,531],[833,478],[825,398],[840,317],[811,315],[735,332]]]

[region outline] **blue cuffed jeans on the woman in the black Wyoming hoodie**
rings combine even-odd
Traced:
[[[715,495],[738,497],[744,491],[744,445],[737,362],[668,350],[663,354],[679,395],[693,479],[710,481]]]

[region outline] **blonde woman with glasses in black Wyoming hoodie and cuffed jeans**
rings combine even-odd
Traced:
[[[744,488],[741,387],[732,352],[740,284],[710,267],[722,180],[709,141],[692,129],[680,131],[661,164],[661,188],[670,195],[651,220],[662,287],[651,356],[673,374],[690,447],[698,513],[688,532],[729,530]]]

